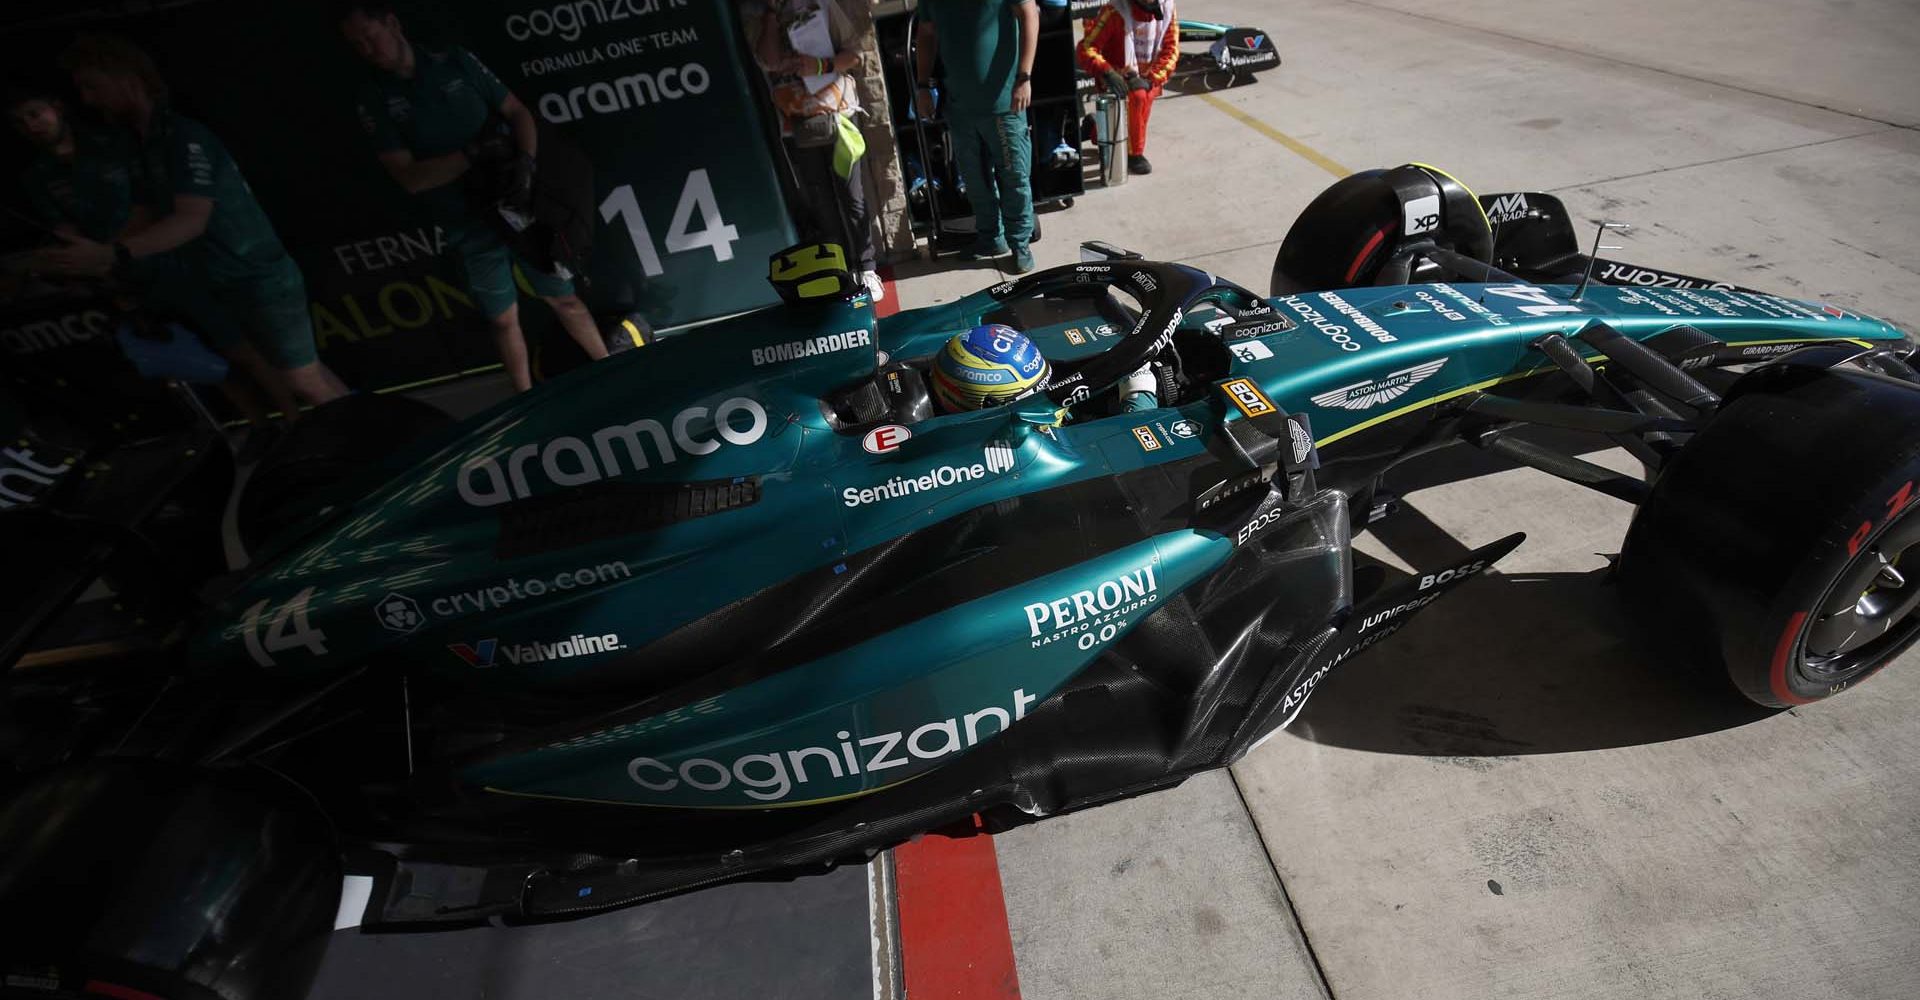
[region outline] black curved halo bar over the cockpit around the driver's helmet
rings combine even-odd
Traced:
[[[1071,367],[1062,365],[1046,384],[1046,397],[1071,407],[1106,392],[1152,361],[1181,324],[1187,309],[1213,288],[1213,276],[1177,263],[1098,261],[1048,267],[987,290],[995,301],[1016,301],[1064,288],[1116,286],[1140,299],[1140,321],[1112,347]]]

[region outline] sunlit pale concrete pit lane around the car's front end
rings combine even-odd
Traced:
[[[1617,255],[1920,330],[1920,12],[1895,0],[1187,0],[1286,63],[1217,92],[1350,167],[1549,190]],[[1263,290],[1332,175],[1192,96],[1154,173],[1044,215]],[[991,269],[908,263],[900,301]],[[1597,455],[1628,468],[1619,455]],[[1457,480],[1457,482],[1446,482]],[[1434,486],[1423,486],[1434,484]],[[1770,714],[1601,580],[1630,509],[1450,457],[1359,547],[1530,539],[1231,774],[998,837],[1027,998],[1920,996],[1920,656]]]

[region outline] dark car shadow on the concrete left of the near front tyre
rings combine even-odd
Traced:
[[[1478,463],[1448,463],[1467,478]],[[1434,470],[1413,480],[1438,482]],[[1411,566],[1469,549],[1417,507],[1373,526]],[[1356,572],[1402,580],[1356,557]],[[1776,714],[1745,701],[1715,662],[1634,620],[1592,572],[1490,572],[1319,683],[1288,729],[1315,743],[1425,756],[1507,756],[1634,747],[1730,729]]]

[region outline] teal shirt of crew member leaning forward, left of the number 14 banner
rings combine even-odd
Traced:
[[[507,104],[507,84],[465,48],[413,50],[413,77],[376,73],[359,92],[359,119],[376,154],[415,159],[457,154]],[[459,180],[420,192],[428,213],[449,228],[467,219]]]

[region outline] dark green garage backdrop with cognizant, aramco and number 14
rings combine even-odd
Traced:
[[[399,17],[415,46],[465,46],[543,134],[591,159],[597,228],[580,294],[595,315],[637,309],[659,328],[776,301],[766,257],[793,244],[793,226],[732,4],[461,0],[399,4]],[[300,261],[321,357],[349,384],[403,386],[497,361],[444,232],[374,157],[355,115],[374,71],[348,50],[326,4],[204,0],[75,15],[13,29],[0,50],[13,69],[63,86],[54,56],[77,31],[148,48],[175,107],[227,144]],[[25,202],[12,179],[27,155],[23,142],[8,146],[0,184],[10,205]],[[584,357],[524,284],[520,317],[545,347],[545,370]],[[0,349],[111,353],[98,326],[98,317],[75,319],[61,336],[8,336]],[[0,317],[0,328],[15,322]]]

